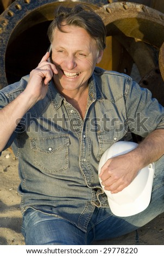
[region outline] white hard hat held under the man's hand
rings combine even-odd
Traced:
[[[98,173],[100,173],[102,166],[108,159],[128,153],[137,146],[137,143],[128,141],[114,143],[102,155],[99,162]],[[147,167],[139,170],[136,178],[129,186],[114,194],[111,194],[108,190],[104,190],[104,186],[101,184],[101,179],[99,178],[100,184],[108,197],[108,203],[113,214],[126,217],[138,214],[148,207],[152,194],[154,171],[154,163],[150,163]]]

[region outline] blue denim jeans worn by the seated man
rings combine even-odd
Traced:
[[[85,233],[67,220],[29,208],[23,214],[22,225],[26,245],[90,245],[142,227],[164,212],[163,165],[159,166],[162,168],[156,169],[151,202],[140,214],[117,217],[110,208],[96,208]]]

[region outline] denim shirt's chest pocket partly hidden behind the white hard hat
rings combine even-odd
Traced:
[[[125,130],[121,129],[121,126],[111,127],[111,129],[108,131],[97,132],[97,139],[99,144],[97,160],[100,160],[105,150],[111,147],[113,143],[120,141],[124,137],[125,133]]]

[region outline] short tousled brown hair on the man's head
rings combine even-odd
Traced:
[[[73,8],[60,5],[55,11],[55,19],[48,27],[47,35],[51,43],[55,28],[64,32],[62,27],[66,25],[84,28],[96,40],[98,50],[104,50],[106,28],[101,17],[90,7],[83,4],[77,4]]]

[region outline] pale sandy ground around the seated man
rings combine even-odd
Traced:
[[[17,172],[18,161],[9,150],[0,157],[0,245],[24,245],[21,234],[22,216],[20,182]],[[113,240],[94,243],[96,245],[164,245],[164,214],[128,235]]]

